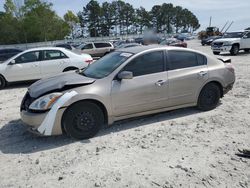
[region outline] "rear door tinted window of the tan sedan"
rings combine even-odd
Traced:
[[[206,58],[197,53],[186,51],[168,51],[169,69],[182,69],[206,64]]]

